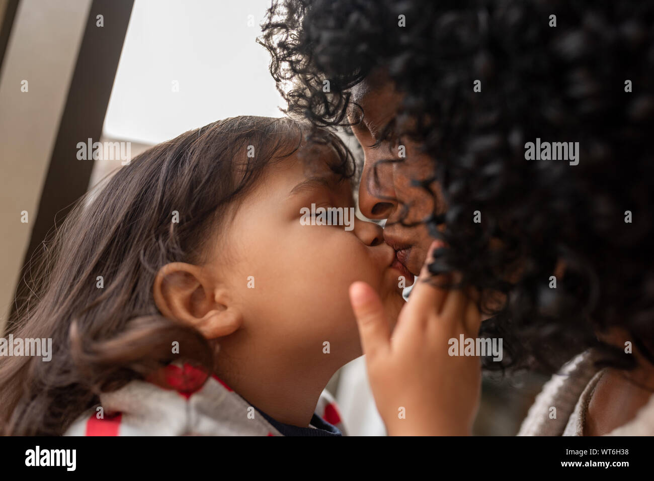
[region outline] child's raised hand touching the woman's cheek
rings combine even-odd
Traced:
[[[392,333],[377,293],[364,282],[350,299],[366,355],[368,379],[388,435],[470,435],[479,405],[478,356],[449,356],[448,340],[476,338],[481,316],[461,290],[424,280],[435,241]]]

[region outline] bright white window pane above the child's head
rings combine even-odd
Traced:
[[[270,3],[136,0],[103,137],[155,144],[221,118],[281,116],[255,41]]]

